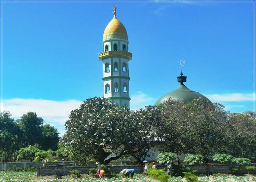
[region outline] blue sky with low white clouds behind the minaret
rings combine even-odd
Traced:
[[[253,110],[252,3],[116,3],[128,32],[131,109],[185,85],[231,112]],[[113,3],[4,3],[3,110],[37,112],[64,133],[69,112],[103,96],[102,35]]]

